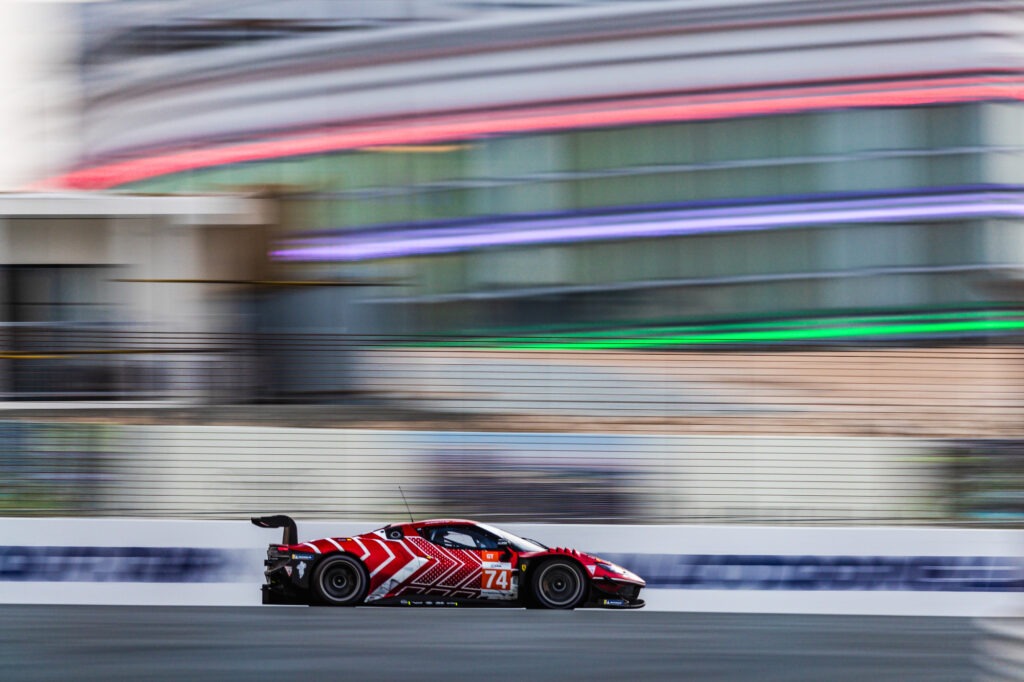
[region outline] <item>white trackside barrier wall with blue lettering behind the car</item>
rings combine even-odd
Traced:
[[[303,540],[382,522],[299,521]],[[616,561],[653,610],[1024,611],[1024,530],[508,524]],[[280,530],[244,521],[6,518],[0,603],[256,605]]]

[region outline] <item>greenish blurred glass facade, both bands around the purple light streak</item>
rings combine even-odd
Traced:
[[[797,212],[812,210],[809,200],[1015,185],[1022,111],[1002,103],[865,109],[517,135],[252,163],[126,188],[301,187],[294,199],[303,231],[323,230],[314,237],[339,244],[346,230],[466,219],[486,225],[499,216],[529,224],[632,211],[634,220],[650,220],[655,210],[720,207],[728,217],[730,208],[740,215],[782,202]],[[889,221],[861,224],[659,239],[628,239],[624,230],[613,240],[392,258],[385,271],[408,285],[374,303],[398,306],[382,316],[404,324],[377,331],[978,306],[993,298],[979,282],[1024,255],[1017,232],[1015,221],[906,221],[893,212]],[[322,264],[319,271],[345,267]]]

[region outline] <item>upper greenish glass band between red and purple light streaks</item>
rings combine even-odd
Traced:
[[[126,189],[308,187],[310,227],[1020,181],[1024,106],[731,118],[388,145],[195,170]],[[1008,163],[998,164],[1004,155]],[[766,259],[772,260],[772,259]]]

